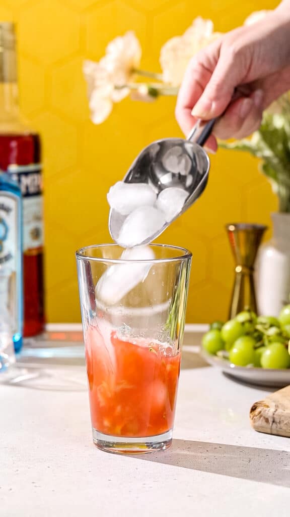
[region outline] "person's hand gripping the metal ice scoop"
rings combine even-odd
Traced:
[[[265,18],[221,36],[191,59],[175,115],[185,135],[197,118],[221,115],[213,133],[240,139],[261,124],[263,110],[290,88],[290,2]],[[231,102],[234,90],[243,92]],[[212,135],[206,146],[217,149]]]

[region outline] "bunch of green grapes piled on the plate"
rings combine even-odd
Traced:
[[[214,322],[202,346],[236,366],[290,368],[290,305],[278,318],[245,309],[226,323]]]

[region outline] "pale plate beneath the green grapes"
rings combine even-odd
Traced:
[[[273,388],[281,388],[290,384],[290,369],[274,370],[270,368],[235,366],[227,359],[208,354],[203,349],[201,349],[201,355],[212,366],[220,368],[223,373],[238,381]]]

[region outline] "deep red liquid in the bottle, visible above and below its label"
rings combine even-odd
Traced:
[[[37,172],[35,165],[40,164],[40,138],[35,133],[7,133],[0,134],[0,168],[7,171],[15,179],[25,176],[26,183],[29,179],[39,182],[40,169]],[[11,166],[23,166],[22,172],[13,171]],[[30,168],[31,167],[31,171]],[[30,171],[30,172],[29,172]],[[15,174],[17,172],[17,174]],[[27,179],[28,178],[28,179]],[[27,183],[28,185],[28,183]],[[39,183],[40,185],[40,183]],[[29,187],[22,188],[23,197],[29,194]],[[34,186],[34,192],[36,192]],[[41,192],[39,192],[40,194]],[[38,194],[38,195],[39,195]],[[29,194],[30,195],[30,194]],[[30,199],[33,199],[31,196]],[[24,288],[24,336],[34,336],[43,330],[43,247],[42,245],[24,245],[23,252],[23,288]]]

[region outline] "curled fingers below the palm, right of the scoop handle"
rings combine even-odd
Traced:
[[[240,139],[260,127],[263,114],[264,93],[257,89],[249,97],[233,102],[214,127],[214,134],[221,140]]]

